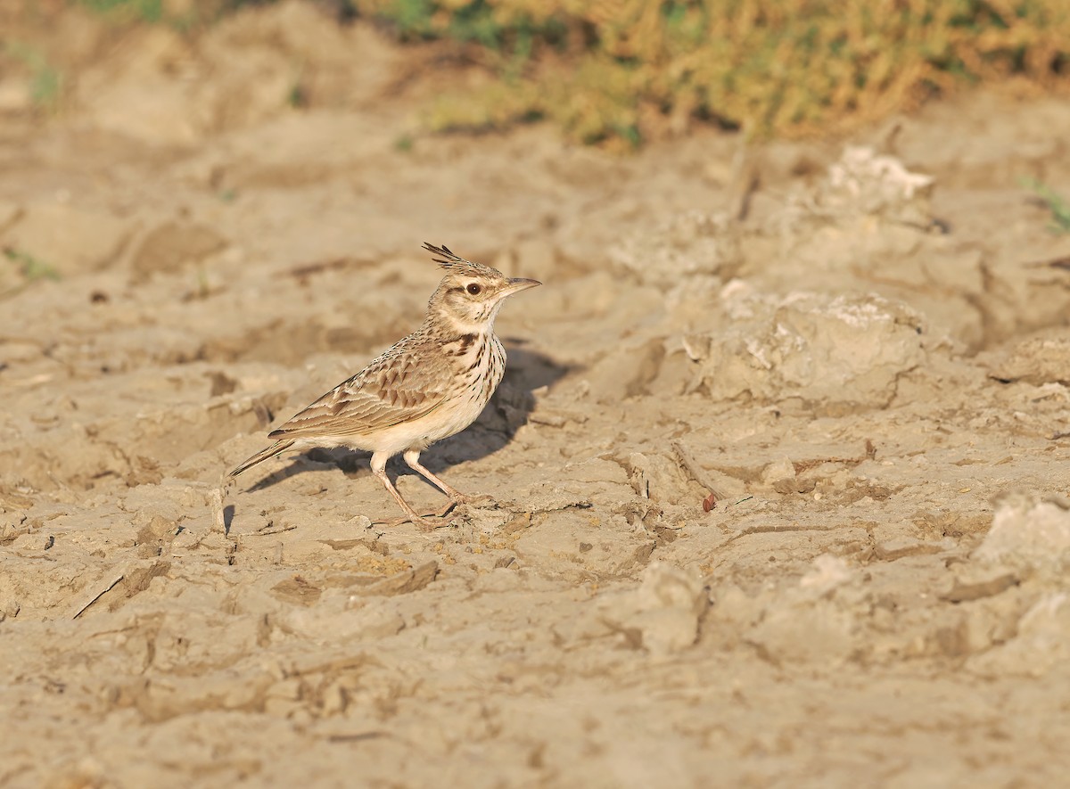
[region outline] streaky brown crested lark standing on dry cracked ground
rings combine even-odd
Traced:
[[[460,433],[476,420],[505,374],[505,349],[494,319],[509,296],[542,284],[509,278],[496,268],[454,254],[446,246],[424,249],[444,272],[427,305],[424,323],[316,402],[271,431],[276,439],[235,466],[234,478],[290,450],[347,447],[371,452],[371,471],[406,517],[431,530],[435,523],[414,510],[386,476],[386,462],[401,454],[455,504],[474,504],[419,462],[434,442]]]

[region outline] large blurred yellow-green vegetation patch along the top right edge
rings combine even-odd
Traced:
[[[434,129],[547,118],[631,148],[692,120],[847,127],[963,83],[1070,76],[1067,0],[351,0],[402,40],[458,42],[498,81]]]

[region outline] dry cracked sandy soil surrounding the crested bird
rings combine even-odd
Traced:
[[[476,77],[308,6],[5,13],[77,79],[0,71],[0,785],[1065,780],[1070,236],[1020,179],[1070,191],[1070,103],[621,159],[422,136]],[[499,506],[384,527],[334,450],[220,493],[418,324],[424,241],[546,283],[425,455]]]

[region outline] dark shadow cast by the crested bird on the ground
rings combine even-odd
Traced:
[[[443,438],[421,454],[421,462],[433,474],[456,463],[486,458],[513,440],[535,408],[534,391],[552,386],[571,370],[568,365],[525,349],[523,341],[505,341],[504,344],[508,355],[505,376],[479,418],[471,427]],[[261,478],[247,490],[261,491],[299,474],[332,466],[341,468],[347,477],[370,474],[370,452],[360,450],[311,448],[291,458],[285,467]],[[391,481],[397,479],[398,469],[411,473],[399,458],[393,458],[386,466]],[[428,480],[424,481],[431,484]]]

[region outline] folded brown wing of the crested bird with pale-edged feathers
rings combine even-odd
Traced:
[[[427,416],[445,401],[448,377],[441,367],[418,363],[418,356],[428,357],[413,350],[404,340],[398,343],[270,437],[365,435]]]

